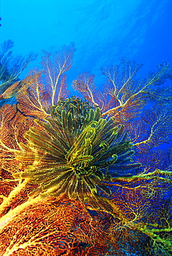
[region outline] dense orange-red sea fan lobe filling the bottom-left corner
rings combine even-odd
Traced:
[[[104,255],[105,226],[105,219],[93,219],[79,201],[41,201],[0,231],[0,255]]]

